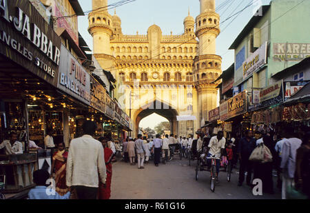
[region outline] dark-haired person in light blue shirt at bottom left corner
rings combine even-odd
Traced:
[[[50,179],[50,174],[45,170],[37,170],[33,172],[33,182],[37,184],[34,189],[28,193],[29,199],[39,200],[56,200],[56,199],[69,199],[70,192],[64,196],[60,196],[54,189],[46,187],[46,181]]]

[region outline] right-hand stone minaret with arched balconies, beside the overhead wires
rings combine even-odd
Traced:
[[[194,80],[198,90],[198,112],[208,121],[207,114],[218,105],[218,84],[222,58],[216,55],[216,37],[220,34],[220,16],[215,12],[215,0],[200,0],[200,14],[196,17],[196,37],[199,39],[198,57],[194,59]]]

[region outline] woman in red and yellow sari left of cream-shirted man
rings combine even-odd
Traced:
[[[55,172],[56,192],[63,196],[69,192],[65,182],[65,166],[67,165],[68,152],[65,151],[65,144],[57,145],[58,151],[53,155],[51,174]]]

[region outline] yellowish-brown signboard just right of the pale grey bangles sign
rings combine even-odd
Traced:
[[[105,113],[105,88],[94,77],[90,76],[90,105]]]

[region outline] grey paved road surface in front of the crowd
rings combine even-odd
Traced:
[[[220,183],[215,192],[211,192],[209,172],[199,172],[196,181],[194,169],[187,159],[174,159],[158,167],[151,161],[145,164],[144,170],[118,161],[113,164],[111,199],[281,199],[277,189],[275,194],[254,196],[247,185],[238,187],[236,170],[229,183],[226,173],[220,172]]]

